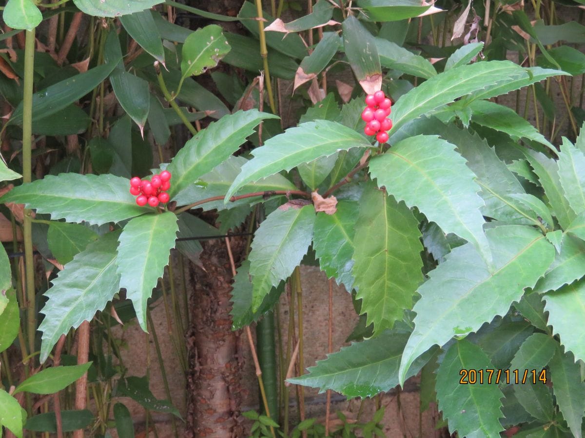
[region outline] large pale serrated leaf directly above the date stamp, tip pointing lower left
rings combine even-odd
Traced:
[[[503,225],[490,228],[486,235],[495,270],[490,272],[473,245],[467,244],[453,249],[418,288],[421,299],[414,305],[415,328],[404,350],[401,373],[432,345],[477,331],[484,322],[505,314],[555,256],[553,246],[532,228]],[[492,299],[487,301],[486,296]]]

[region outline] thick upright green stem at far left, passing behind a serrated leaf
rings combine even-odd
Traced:
[[[23,92],[22,115],[22,182],[29,183],[32,180],[32,111],[33,111],[33,77],[35,65],[35,29],[26,31],[25,40],[25,79]],[[26,267],[26,336],[29,351],[35,351],[35,266],[33,259],[33,239],[31,210],[25,209],[23,220],[23,237],[25,241],[25,267]]]

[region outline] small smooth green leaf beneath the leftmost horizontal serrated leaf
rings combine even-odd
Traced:
[[[66,222],[51,222],[47,231],[49,249],[61,265],[69,263],[75,254],[97,238],[98,235],[90,228]]]

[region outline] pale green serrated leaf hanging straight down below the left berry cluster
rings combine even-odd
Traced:
[[[145,332],[146,303],[168,265],[177,231],[177,216],[166,211],[133,218],[118,239],[116,266],[120,287],[126,288],[126,297],[132,300],[140,327]]]

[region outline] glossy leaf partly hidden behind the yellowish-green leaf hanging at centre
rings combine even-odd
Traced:
[[[355,201],[339,201],[335,213],[317,213],[313,230],[313,248],[321,270],[348,291],[353,288],[353,235],[358,214]]]

